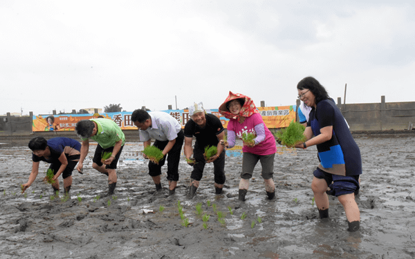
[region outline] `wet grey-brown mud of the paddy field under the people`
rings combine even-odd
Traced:
[[[317,166],[313,147],[294,151],[278,146],[277,197],[267,200],[258,164],[247,200],[239,202],[238,150],[227,151],[223,194],[214,193],[213,167],[208,165],[190,200],[192,167],[184,156],[178,188],[169,196],[166,166],[163,191],[156,192],[140,155],[142,144],[127,142],[116,193],[97,199],[108,184],[105,175],[92,169],[91,146],[84,175],[73,172],[71,198],[65,200],[62,178],[59,197],[42,182],[48,168],[43,162],[37,180],[21,194],[20,184],[31,170],[30,150],[0,145],[0,258],[415,258],[414,135],[355,139],[363,162],[356,198],[361,227],[355,233],[346,230],[337,198],[330,197],[328,221],[317,217],[310,188]],[[210,215],[207,222],[205,214]]]

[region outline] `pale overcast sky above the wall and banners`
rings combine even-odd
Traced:
[[[285,106],[307,76],[336,102],[415,101],[413,0],[1,0],[0,24],[0,114]]]

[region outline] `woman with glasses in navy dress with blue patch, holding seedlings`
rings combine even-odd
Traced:
[[[311,189],[320,218],[329,218],[329,198],[326,189],[331,186],[343,205],[349,231],[360,228],[360,211],[355,192],[360,188],[362,174],[360,149],[351,136],[347,122],[337,106],[330,100],[326,89],[313,77],[305,77],[297,84],[298,97],[311,107],[304,135],[307,140],[296,148],[317,146],[320,164],[314,171]]]

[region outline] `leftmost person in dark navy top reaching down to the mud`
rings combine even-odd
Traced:
[[[69,193],[72,185],[72,171],[80,159],[81,144],[77,140],[68,137],[53,137],[46,140],[44,137],[33,137],[28,144],[32,155],[32,172],[26,184],[22,184],[21,193],[30,187],[39,173],[39,162],[50,163],[49,169],[53,170],[53,192],[59,191],[59,175],[64,178],[65,194]]]

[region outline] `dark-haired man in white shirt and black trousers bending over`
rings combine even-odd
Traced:
[[[139,129],[140,141],[144,142],[144,148],[150,146],[151,139],[154,139],[156,141],[153,145],[163,152],[163,159],[158,164],[149,161],[149,175],[153,178],[154,184],[156,184],[156,191],[161,191],[162,189],[160,182],[161,166],[165,164],[167,156],[169,195],[174,194],[178,181],[178,163],[180,162],[184,139],[181,125],[172,115],[162,111],[147,113],[144,110],[136,110],[131,115],[131,121]]]

